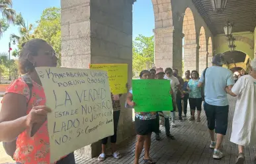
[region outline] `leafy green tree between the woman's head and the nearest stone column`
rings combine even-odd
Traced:
[[[46,40],[58,55],[59,63],[61,65],[61,23],[60,23],[61,9],[56,7],[50,7],[45,9],[42,13],[40,20],[38,20],[38,26],[34,30],[36,38]]]

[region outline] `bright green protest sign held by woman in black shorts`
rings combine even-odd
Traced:
[[[136,112],[173,111],[169,80],[132,80]]]

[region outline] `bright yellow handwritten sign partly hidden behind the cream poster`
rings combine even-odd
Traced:
[[[91,64],[90,68],[94,70],[106,70],[108,72],[110,90],[114,95],[125,94],[127,92],[127,64]]]

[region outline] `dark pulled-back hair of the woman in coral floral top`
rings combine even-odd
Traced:
[[[42,43],[47,42],[42,39],[32,39],[22,43],[22,49],[19,53],[19,71],[21,74],[26,74],[34,70],[33,63],[28,61],[28,55],[38,55],[38,51],[42,47]]]

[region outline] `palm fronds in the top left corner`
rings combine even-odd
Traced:
[[[3,22],[7,20],[8,23],[14,23],[15,22],[15,10],[12,9],[13,2],[12,0],[0,0],[0,11],[2,13],[2,21],[0,21],[0,37],[3,34]]]

